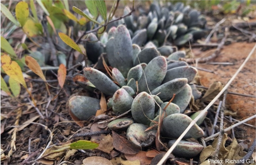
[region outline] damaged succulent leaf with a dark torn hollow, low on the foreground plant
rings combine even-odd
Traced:
[[[135,144],[138,147],[148,147],[154,142],[156,138],[157,130],[148,130],[145,131],[148,126],[134,123],[131,124],[126,132],[126,137],[130,142]]]

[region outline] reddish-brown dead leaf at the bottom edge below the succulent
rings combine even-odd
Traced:
[[[151,158],[148,158],[146,156],[145,151],[139,151],[138,153],[134,154],[134,155],[130,155],[130,154],[125,154],[126,159],[128,161],[136,161],[139,160],[140,165],[149,165],[151,163]]]

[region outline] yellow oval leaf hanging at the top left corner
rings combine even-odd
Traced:
[[[18,19],[18,22],[20,23],[21,27],[23,27],[29,15],[29,9],[28,9],[27,3],[23,1],[19,2],[16,5],[15,12],[16,12],[16,18]]]

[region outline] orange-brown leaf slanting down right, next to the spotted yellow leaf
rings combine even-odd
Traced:
[[[34,58],[32,58],[31,56],[26,56],[25,62],[27,64],[27,67],[29,67],[31,71],[36,73],[37,76],[39,76],[41,79],[43,79],[46,82],[45,75],[40,65],[37,63],[37,61]]]

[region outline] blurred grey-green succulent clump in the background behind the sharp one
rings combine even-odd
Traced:
[[[130,12],[128,6],[124,14]],[[153,41],[162,46],[166,35],[167,40],[174,45],[184,45],[190,39],[200,39],[205,35],[205,16],[189,5],[178,2],[174,5],[167,3],[160,6],[157,1],[150,5],[149,11],[139,9],[139,16],[135,14],[124,19],[126,27],[132,36],[132,43],[139,46]],[[114,26],[114,25],[112,25]]]

